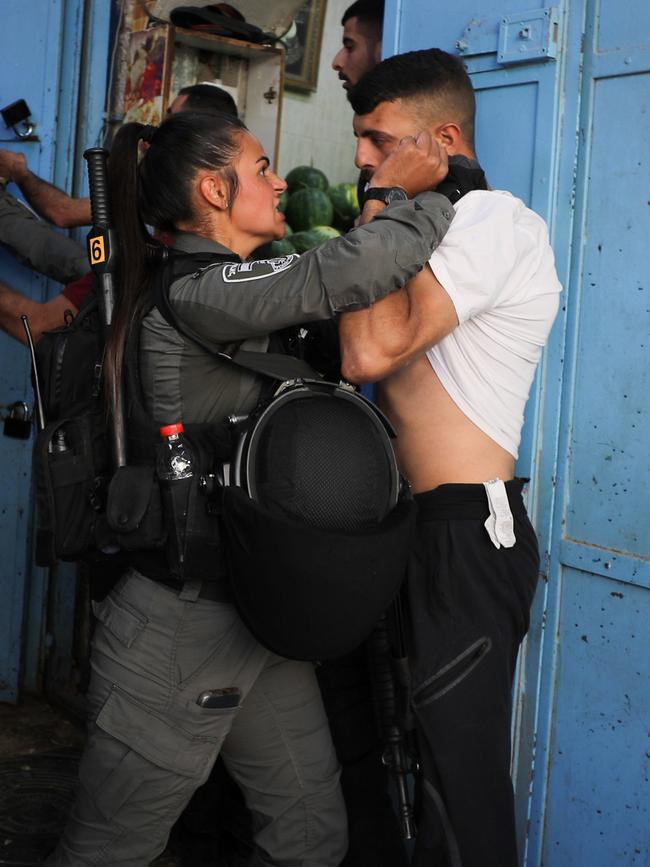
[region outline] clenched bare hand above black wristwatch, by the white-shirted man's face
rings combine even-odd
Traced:
[[[409,198],[435,189],[448,171],[447,151],[423,130],[405,136],[395,150],[375,169],[371,187],[401,187]]]

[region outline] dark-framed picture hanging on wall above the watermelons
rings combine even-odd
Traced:
[[[290,90],[316,90],[327,0],[305,0],[282,44],[287,50],[284,85]]]

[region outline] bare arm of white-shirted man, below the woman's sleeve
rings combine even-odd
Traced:
[[[428,265],[403,289],[339,318],[343,376],[378,382],[458,325],[456,308]]]

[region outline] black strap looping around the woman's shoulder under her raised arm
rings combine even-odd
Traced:
[[[202,267],[207,267],[218,262],[241,261],[239,257],[225,255],[223,253],[181,253],[170,251],[167,259],[162,263],[157,279],[154,280],[153,302],[160,311],[163,319],[176,331],[183,334],[188,340],[196,343],[210,355],[215,355],[223,361],[228,361],[238,367],[243,367],[253,373],[259,373],[270,379],[285,381],[288,379],[322,379],[313,367],[300,358],[291,355],[279,355],[273,352],[250,352],[238,349],[234,355],[228,355],[211,346],[206,340],[197,334],[187,323],[179,320],[169,300],[169,287],[174,280],[188,274],[198,273]]]

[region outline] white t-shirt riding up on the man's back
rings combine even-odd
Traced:
[[[546,224],[520,199],[474,190],[455,211],[429,263],[459,325],[427,357],[459,409],[516,458],[562,286]]]

